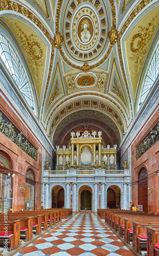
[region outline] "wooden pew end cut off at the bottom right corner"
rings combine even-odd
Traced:
[[[147,255],[159,255],[159,229],[146,227],[147,229]]]

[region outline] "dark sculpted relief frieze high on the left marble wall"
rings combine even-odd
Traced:
[[[9,122],[8,118],[2,114],[2,112],[0,112],[0,131],[36,161],[36,148],[24,136],[22,136],[16,127]]]

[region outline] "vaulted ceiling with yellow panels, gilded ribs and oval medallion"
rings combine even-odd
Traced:
[[[26,62],[37,116],[53,143],[65,126],[67,132],[78,130],[83,120],[99,129],[105,123],[120,143],[133,121],[140,78],[157,38],[158,1],[0,5],[1,25]]]

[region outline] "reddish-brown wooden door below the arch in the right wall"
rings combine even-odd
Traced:
[[[143,211],[148,211],[147,178],[138,183],[138,205],[143,205]]]

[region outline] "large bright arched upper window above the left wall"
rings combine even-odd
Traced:
[[[31,84],[27,79],[25,70],[17,54],[2,34],[0,34],[0,57],[4,61],[22,95],[25,97],[32,110],[34,110],[35,104],[33,102]]]

